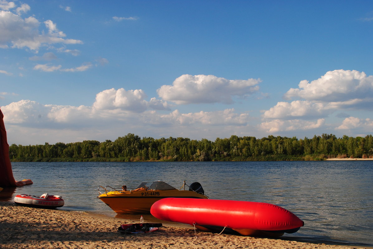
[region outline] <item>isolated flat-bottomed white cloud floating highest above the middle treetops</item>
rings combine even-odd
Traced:
[[[160,98],[176,104],[233,103],[232,96],[244,97],[259,90],[260,79],[228,80],[213,75],[178,77],[172,85],[163,85]]]

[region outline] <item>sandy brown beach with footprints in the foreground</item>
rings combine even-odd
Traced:
[[[284,238],[217,235],[198,230],[195,232],[193,227],[176,227],[167,224],[153,233],[121,234],[117,232],[117,228],[123,223],[134,223],[134,221],[79,211],[20,207],[10,202],[0,202],[0,248],[364,248],[297,242]]]

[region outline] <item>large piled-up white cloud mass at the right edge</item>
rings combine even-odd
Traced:
[[[301,98],[292,102],[278,102],[264,111],[261,128],[279,132],[318,127],[330,114],[341,110],[373,110],[373,76],[356,70],[328,71],[317,80],[302,80],[299,88],[285,93],[286,99]],[[314,125],[308,124],[314,119]],[[317,122],[316,122],[317,119]],[[321,122],[323,120],[323,122]],[[353,127],[357,118],[348,117],[337,130]],[[304,123],[303,125],[299,125]],[[359,120],[359,124],[361,121]]]

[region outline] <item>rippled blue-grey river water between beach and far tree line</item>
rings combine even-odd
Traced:
[[[305,226],[282,238],[315,243],[373,246],[373,161],[322,162],[32,162],[12,163],[17,194],[62,195],[62,210],[116,215],[96,198],[99,185],[134,189],[162,180],[175,188],[200,182],[213,199],[269,202],[288,209]],[[4,192],[4,191],[3,191]],[[130,218],[130,217],[122,217]]]

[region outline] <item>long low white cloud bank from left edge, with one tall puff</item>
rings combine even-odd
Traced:
[[[106,98],[108,100],[104,102]],[[7,125],[33,129],[84,130],[95,127],[102,130],[103,127],[108,128],[115,124],[116,129],[125,125],[126,128],[141,130],[140,127],[146,127],[157,131],[161,127],[163,132],[167,133],[169,129],[167,127],[170,127],[175,134],[178,134],[178,131],[187,134],[204,129],[204,127],[208,130],[215,129],[212,127],[222,127],[220,131],[225,130],[224,134],[231,135],[239,129],[245,129],[248,124],[249,115],[235,113],[234,109],[186,114],[178,110],[169,114],[144,111],[148,103],[143,101],[143,98],[144,93],[141,90],[109,89],[97,94],[96,102],[92,107],[42,105],[31,100],[21,100],[2,106],[1,110]],[[141,108],[138,107],[139,104],[142,105]],[[180,128],[181,126],[195,128],[192,131],[184,131]]]

